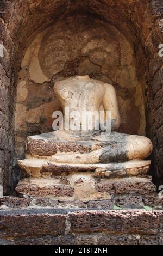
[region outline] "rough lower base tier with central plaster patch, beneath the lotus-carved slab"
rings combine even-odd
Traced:
[[[61,201],[110,200],[113,194],[149,194],[156,191],[150,178],[96,178],[92,172],[53,178],[26,178],[17,187],[21,197],[46,197]]]

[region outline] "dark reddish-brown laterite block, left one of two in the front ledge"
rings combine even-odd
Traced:
[[[61,235],[65,230],[64,215],[3,215],[1,214],[0,237]]]

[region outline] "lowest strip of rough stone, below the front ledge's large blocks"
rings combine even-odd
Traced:
[[[162,245],[159,235],[65,235],[0,239],[0,245]]]

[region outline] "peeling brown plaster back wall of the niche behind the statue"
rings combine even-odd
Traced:
[[[130,32],[123,35],[108,22],[86,15],[67,17],[35,36],[17,82],[15,160],[24,157],[27,136],[52,131],[52,113],[61,110],[54,83],[74,75],[113,84],[121,115],[118,131],[145,135],[146,84],[137,80],[130,38]]]

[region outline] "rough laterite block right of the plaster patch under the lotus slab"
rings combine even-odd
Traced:
[[[95,186],[97,191],[110,194],[148,194],[156,191],[154,184],[148,178],[102,180]]]

